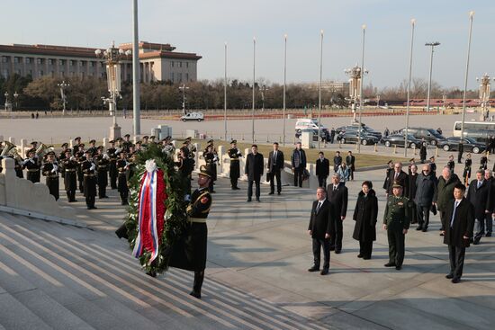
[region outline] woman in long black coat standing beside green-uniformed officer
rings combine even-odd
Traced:
[[[359,241],[358,258],[371,259],[373,241],[376,240],[376,219],[378,217],[378,200],[373,190],[373,183],[365,181],[363,191],[357,195],[353,219],[356,221],[353,238]]]

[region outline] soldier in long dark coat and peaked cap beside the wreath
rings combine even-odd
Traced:
[[[208,192],[211,177],[209,168],[202,165],[198,177],[199,188],[193,192],[186,209],[190,226],[187,228],[183,239],[172,247],[169,263],[172,267],[194,272],[193,290],[190,294],[197,299],[201,299],[202,281],[206,268],[208,240],[206,219],[211,208],[211,195]],[[153,276],[154,274],[150,275]]]

